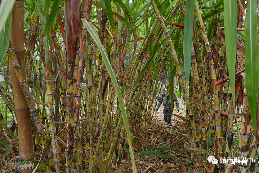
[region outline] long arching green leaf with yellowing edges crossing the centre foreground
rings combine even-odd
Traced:
[[[121,95],[119,85],[118,85],[116,77],[113,73],[113,69],[112,69],[108,54],[107,54],[105,48],[103,47],[102,42],[100,41],[99,36],[96,33],[96,30],[94,29],[94,26],[92,25],[92,23],[88,22],[86,19],[82,19],[81,21],[83,23],[83,26],[86,27],[87,31],[90,33],[90,35],[92,36],[92,38],[94,39],[94,41],[98,45],[98,47],[100,49],[100,53],[102,54],[103,62],[105,64],[106,68],[107,68],[109,76],[110,76],[110,78],[113,82],[114,88],[116,90],[118,101],[119,101],[119,107],[120,107],[121,114],[122,114],[122,119],[123,119],[123,122],[124,122],[124,125],[125,125],[127,137],[128,137],[129,153],[130,153],[130,160],[131,160],[131,164],[132,164],[132,170],[133,170],[134,173],[136,173],[137,172],[136,163],[135,163],[135,158],[134,158],[133,145],[132,145],[132,142],[131,142],[131,134],[130,134],[130,131],[129,131],[129,123],[128,123],[128,119],[127,119],[127,113],[126,113],[126,110],[125,110],[125,105],[124,105],[124,102],[123,102],[123,99],[122,99],[122,95]]]

